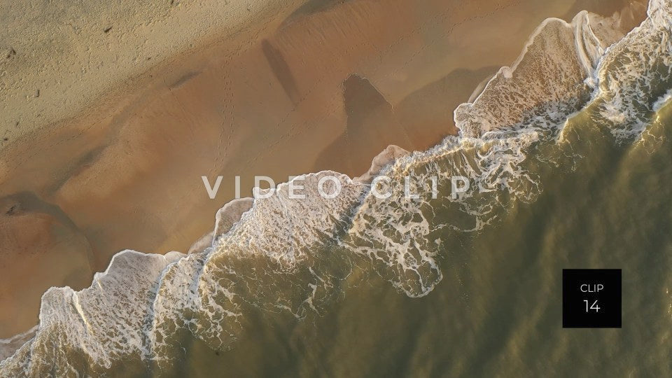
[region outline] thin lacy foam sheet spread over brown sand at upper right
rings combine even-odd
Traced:
[[[589,17],[601,22],[602,41]],[[465,137],[493,130],[552,127],[589,98],[594,67],[617,31],[603,18],[581,12],[571,23],[549,18],[535,29],[519,58],[502,67],[472,103],[455,109]]]

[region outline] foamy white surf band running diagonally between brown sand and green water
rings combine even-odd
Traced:
[[[271,197],[232,202],[204,251],[122,251],[89,288],[50,288],[39,325],[0,344],[15,350],[0,355],[0,375],[102,371],[123,358],[169,362],[183,332],[227,349],[251,311],[321,314],[361,272],[410,297],[427,295],[442,279],[446,235],[478,232],[533,202],[542,191],[536,165],[580,158],[565,148],[575,143],[565,134],[577,112],[600,118],[594,124],[616,143],[638,141],[672,86],[672,0],[651,1],[647,15],[626,36],[615,20],[587,12],[571,23],[548,19],[517,62],[458,106],[459,136],[423,152],[391,146],[360,178],[295,178],[304,200],[283,183]],[[391,178],[386,200],[372,195],[377,174]],[[327,175],[342,187],[335,198],[315,189]],[[456,175],[471,190],[451,196]],[[417,198],[405,196],[406,176]]]

